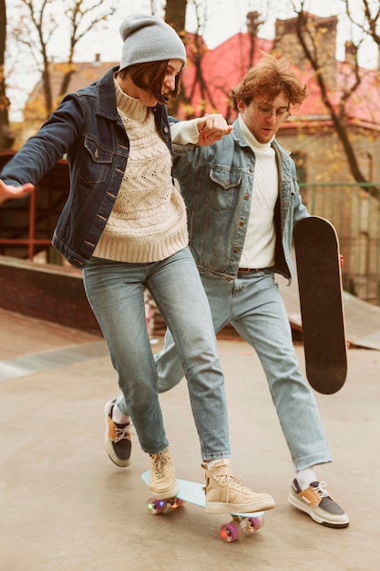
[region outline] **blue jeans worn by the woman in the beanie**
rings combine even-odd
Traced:
[[[92,258],[84,269],[84,284],[118,372],[118,408],[131,417],[142,450],[156,454],[168,446],[146,327],[145,286],[176,340],[202,459],[229,457],[224,377],[210,306],[190,249],[151,264]]]

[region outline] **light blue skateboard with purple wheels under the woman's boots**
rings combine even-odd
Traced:
[[[150,471],[143,472],[141,478],[144,483],[149,486]],[[179,480],[179,492],[173,498],[166,500],[155,500],[149,498],[148,509],[150,514],[161,514],[166,511],[168,507],[178,508],[183,504],[189,503],[198,505],[201,508],[206,506],[206,496],[204,493],[204,485],[201,483],[190,482],[189,480]],[[258,531],[264,524],[264,512],[252,512],[247,514],[231,513],[231,522],[221,525],[221,539],[227,543],[236,541],[241,538],[243,532],[252,534]]]

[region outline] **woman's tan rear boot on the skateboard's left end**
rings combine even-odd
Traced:
[[[174,473],[169,447],[159,454],[149,454],[151,470],[149,477],[150,492],[156,500],[164,500],[177,495],[179,487]]]

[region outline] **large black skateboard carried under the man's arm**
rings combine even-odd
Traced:
[[[347,376],[342,257],[333,224],[304,218],[295,227],[294,248],[306,377],[316,391],[333,394]]]

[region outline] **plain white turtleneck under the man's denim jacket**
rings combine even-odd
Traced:
[[[241,115],[239,125],[255,156],[251,213],[239,266],[252,269],[271,267],[274,265],[276,244],[273,214],[278,196],[278,173],[272,140],[268,143],[256,140]]]

